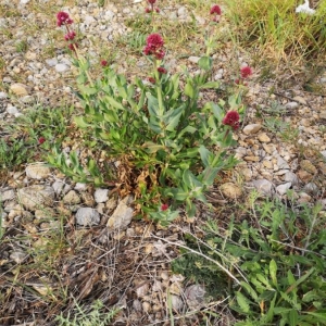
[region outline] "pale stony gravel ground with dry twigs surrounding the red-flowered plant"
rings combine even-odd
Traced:
[[[0,65],[0,121],[3,124],[13,124],[15,117],[33,105],[58,108],[74,103],[79,106],[68,87],[76,72],[70,54],[64,50],[64,41],[60,40],[63,32],[55,26],[58,10],[68,12],[79,24],[84,36],[80,40],[82,52],[88,53],[92,63],[99,65],[104,53],[99,52],[103,50],[99,49],[99,42],[109,48],[121,36],[131,33],[131,28],[125,25],[126,18],[136,17],[146,8],[146,1],[129,1],[125,5],[106,3],[102,8],[98,2],[90,1],[78,1],[78,5],[55,1],[53,5],[53,1],[46,0],[0,0],[0,4],[5,10],[0,16],[0,28],[4,32],[0,33],[3,62],[2,67]],[[179,7],[174,1],[161,11],[166,20],[187,21],[189,13],[189,8]],[[196,20],[198,24],[204,23],[204,17],[196,15]],[[229,45],[225,50],[217,51],[214,59],[218,62],[214,67],[214,78],[222,82],[231,78],[228,68],[235,58]],[[175,60],[172,53],[168,60],[172,70],[177,71],[180,63],[196,70],[193,62],[197,57],[191,52],[180,61]],[[236,60],[239,66],[252,64],[248,53],[238,53]],[[126,64],[121,63],[122,71],[129,71]],[[141,72],[142,64],[142,59],[136,59],[131,70]],[[254,188],[264,196],[279,198],[292,189],[298,202],[313,204],[317,199],[326,209],[326,100],[325,92],[322,92],[326,86],[326,72],[313,79],[322,90],[318,93],[304,91],[302,79],[288,71],[281,72],[277,80],[265,78],[262,82],[260,74],[261,70],[256,67],[244,99],[248,103],[247,116],[241,130],[235,136],[239,143],[236,154],[242,163],[228,181],[216,186],[210,196],[227,203],[240,200]],[[285,79],[288,83],[280,83]],[[281,126],[275,123],[275,117],[281,118]],[[281,128],[281,135],[277,134]],[[204,289],[185,284],[181,276],[171,275],[168,269],[168,263],[177,255],[178,246],[185,243],[180,226],[173,225],[162,230],[131,221],[133,199],[109,199],[110,191],[74,184],[42,163],[28,165],[20,173],[13,172],[9,180],[2,181],[0,195],[7,235],[35,235],[33,241],[1,244],[0,272],[5,278],[3,289],[11,288],[11,271],[30,261],[33,251],[46,246],[47,237],[39,234],[60,227],[59,220],[48,221],[46,216],[61,213],[67,216],[66,228],[75,239],[71,243],[76,243],[76,239],[83,240],[79,253],[91,248],[82,258],[71,249],[75,261],[61,262],[64,271],[62,283],[76,298],[83,300],[91,291],[98,291],[98,298],[105,304],[123,306],[124,313],[117,318],[121,325],[170,325],[167,291],[176,317],[201,309],[203,301],[200,293]],[[40,204],[42,209],[39,209]],[[17,224],[23,226],[20,231],[16,230]],[[189,230],[188,224],[181,225]],[[87,255],[96,258],[99,264],[91,263]],[[105,267],[101,267],[100,263]],[[76,268],[78,264],[79,269]],[[51,278],[46,272],[26,272],[20,277],[25,287],[39,293],[47,290],[42,286],[43,278],[47,278],[50,288],[58,286],[55,277]],[[87,281],[88,278],[92,281]],[[34,291],[34,297],[29,293],[33,300],[36,300],[37,292]],[[16,301],[7,311],[8,314],[20,312],[20,322],[23,323],[32,322],[34,317],[28,315],[34,311],[36,318],[41,321],[35,325],[47,324],[48,316],[43,312],[30,305],[27,299],[22,299],[23,294],[11,297]],[[68,308],[58,304],[57,312]],[[2,324],[13,325],[7,324],[5,318],[0,313]],[[189,322],[179,323],[189,325]]]

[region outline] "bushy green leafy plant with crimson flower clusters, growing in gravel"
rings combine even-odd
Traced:
[[[120,161],[124,178],[116,184],[129,187],[124,192],[134,191],[141,213],[155,221],[171,222],[180,204],[193,216],[195,201],[206,203],[204,192],[217,174],[238,162],[228,148],[236,145],[233,131],[239,127],[240,96],[199,105],[200,91],[220,87],[208,77],[212,59],[205,55],[199,61],[198,75],[187,71],[172,75],[164,66],[165,42],[156,33],[148,36],[143,49],[153,67],[151,83],[138,77],[127,82],[108,66],[92,80],[89,61],[77,48],[76,52],[77,96],[84,113],[75,123],[105,149],[108,159]],[[108,183],[93,159],[84,168],[76,154],[68,159],[67,163],[57,149],[50,163],[75,179]],[[168,212],[160,210],[160,202],[170,203]]]

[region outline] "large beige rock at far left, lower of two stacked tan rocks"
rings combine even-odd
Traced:
[[[52,206],[54,190],[50,186],[34,185],[17,191],[20,202],[30,211],[42,206]]]

